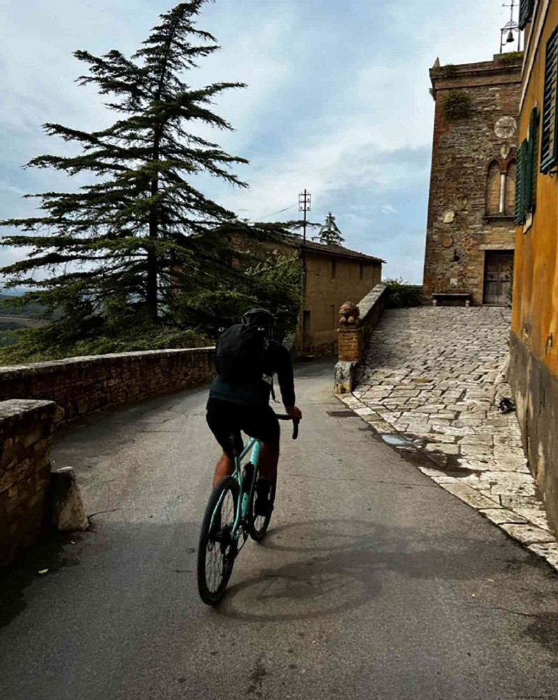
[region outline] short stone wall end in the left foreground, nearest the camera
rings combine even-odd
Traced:
[[[48,455],[61,417],[52,401],[0,402],[0,566],[45,528]]]

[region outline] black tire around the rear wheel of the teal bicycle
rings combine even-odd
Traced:
[[[220,540],[215,540],[215,535],[217,533],[210,533],[211,519],[213,518],[213,512],[217,508],[222,494],[225,491],[231,493],[233,501],[233,509],[231,516],[229,517],[229,522],[223,524],[221,522],[221,528],[219,536]],[[203,603],[206,605],[217,605],[224,596],[227,590],[227,584],[231,577],[231,573],[234,566],[234,560],[236,554],[238,554],[237,542],[230,538],[227,540],[227,532],[231,532],[232,525],[234,524],[234,517],[236,510],[238,508],[238,482],[233,477],[225,477],[222,479],[217,486],[213,489],[211,496],[208,500],[206,507],[206,512],[203,515],[203,520],[201,521],[201,531],[199,534],[199,545],[198,545],[198,563],[197,563],[197,580],[198,580],[198,591],[199,596]],[[225,493],[224,498],[227,498]],[[221,509],[223,508],[224,500],[221,504]],[[220,512],[222,516],[222,512]],[[232,521],[230,521],[230,519]],[[215,524],[214,524],[215,527]],[[227,529],[228,528],[228,529]],[[216,549],[218,547],[218,550]],[[221,563],[215,566],[220,566],[220,582],[215,585],[215,582],[208,582],[208,553],[217,552],[221,554]],[[217,557],[215,558],[217,559]],[[214,567],[213,573],[216,573],[217,569]]]

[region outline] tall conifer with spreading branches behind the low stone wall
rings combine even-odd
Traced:
[[[1,222],[22,230],[4,237],[4,245],[32,248],[0,271],[8,286],[29,287],[24,302],[62,309],[56,327],[43,331],[47,345],[49,337],[71,346],[146,326],[203,327],[258,296],[257,280],[233,264],[239,254],[231,243],[238,236],[277,237],[285,228],[239,221],[194,186],[197,174],[208,173],[245,187],[230,167],[247,162],[193,133],[199,124],[231,130],[212,104],[222,92],[245,87],[196,89],[183,81],[219,48],[196,28],[206,1],[178,3],[130,58],[117,50],[74,54],[89,66],[80,83],[96,85],[117,120],[97,132],[44,125],[80,153],[42,155],[27,167],[85,174],[88,184],[29,195],[40,198],[40,216]]]

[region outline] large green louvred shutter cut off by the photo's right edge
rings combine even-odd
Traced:
[[[546,43],[545,90],[541,137],[541,173],[548,174],[558,161],[557,141],[558,27]]]

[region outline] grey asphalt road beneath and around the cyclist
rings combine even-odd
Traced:
[[[330,363],[299,369],[271,530],[217,610],[194,580],[219,454],[206,391],[62,433],[56,465],[99,514],[0,578],[0,697],[557,697],[558,577],[359,418],[331,416],[331,385]]]

